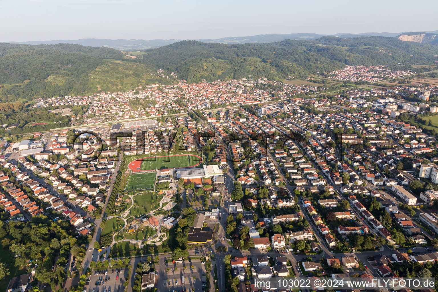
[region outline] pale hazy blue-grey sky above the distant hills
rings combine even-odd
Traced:
[[[0,0],[0,42],[438,29],[436,0]],[[410,9],[414,4],[414,10]]]

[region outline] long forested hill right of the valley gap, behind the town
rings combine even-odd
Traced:
[[[332,36],[316,40],[284,40],[265,44],[182,41],[145,50],[145,63],[174,72],[188,82],[241,77],[283,78],[328,72],[346,65],[431,64],[438,47],[392,37]]]

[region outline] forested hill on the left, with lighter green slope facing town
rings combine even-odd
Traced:
[[[105,47],[0,43],[0,102],[172,82],[151,75],[155,70]]]

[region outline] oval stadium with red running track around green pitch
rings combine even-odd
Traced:
[[[156,169],[196,167],[202,163],[201,156],[195,154],[178,154],[138,158],[130,162],[132,172],[146,172]]]

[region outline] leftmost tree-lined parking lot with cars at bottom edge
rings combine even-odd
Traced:
[[[117,273],[119,271],[119,273]],[[95,275],[95,272],[97,274]],[[99,274],[100,273],[100,274]],[[106,274],[105,274],[106,273]],[[120,292],[124,291],[123,282],[128,275],[127,268],[98,270],[91,272],[87,292]]]

